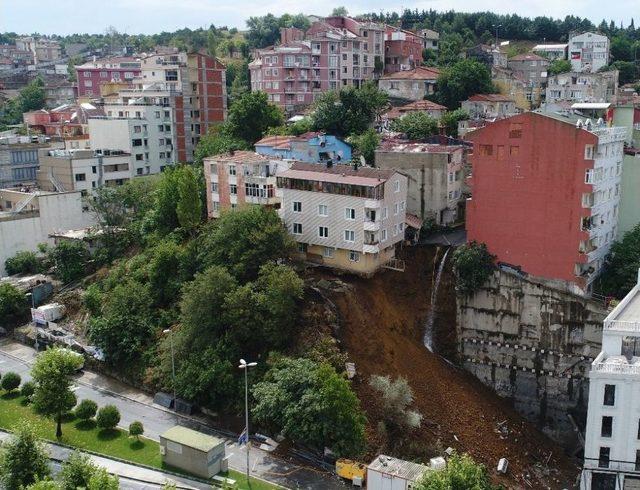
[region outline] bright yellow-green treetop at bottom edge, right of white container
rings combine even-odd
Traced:
[[[491,483],[484,465],[476,463],[471,456],[453,453],[447,467],[439,471],[427,471],[414,486],[416,490],[498,490]]]

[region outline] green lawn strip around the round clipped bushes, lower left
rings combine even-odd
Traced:
[[[34,413],[18,392],[0,395],[0,428],[12,429],[23,420],[31,422],[42,439],[56,442],[56,426],[53,420]],[[128,433],[122,429],[99,429],[93,420],[77,420],[73,415],[65,416],[60,442],[105,456],[114,456],[189,476],[184,471],[162,464],[159,444],[156,441],[144,437],[130,438]],[[236,480],[238,488],[241,489],[271,490],[276,488],[254,479],[251,479],[251,485],[248,485],[245,475],[233,470],[224,476]]]

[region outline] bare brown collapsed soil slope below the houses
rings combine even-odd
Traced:
[[[330,295],[340,316],[342,346],[356,364],[354,386],[367,411],[370,434],[375,440],[377,414],[369,377],[403,376],[413,389],[415,408],[423,415],[421,428],[408,437],[434,452],[451,446],[470,453],[508,488],[573,487],[578,467],[558,445],[506,400],[423,346],[435,254],[435,248],[407,249],[405,272],[384,271],[372,279],[345,276],[341,280],[351,287]],[[450,265],[438,298],[434,337],[450,350],[455,332]],[[502,457],[509,460],[506,477],[495,476]]]

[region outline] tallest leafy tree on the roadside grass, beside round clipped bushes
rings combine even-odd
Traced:
[[[58,439],[62,437],[62,416],[76,404],[71,376],[82,363],[80,354],[53,348],[41,353],[31,369],[36,384],[33,405],[41,414],[55,419]]]

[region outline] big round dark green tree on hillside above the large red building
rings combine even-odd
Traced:
[[[474,94],[495,92],[491,82],[491,73],[485,65],[475,60],[457,61],[445,68],[438,76],[436,102],[449,109],[457,109],[460,102]]]

